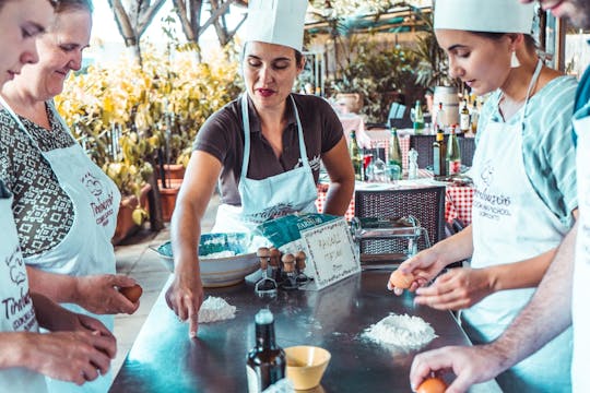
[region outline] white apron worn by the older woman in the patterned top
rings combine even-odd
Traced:
[[[43,152],[26,127],[1,97],[0,103],[49,163],[59,186],[72,201],[74,211],[73,224],[66,238],[51,250],[26,258],[25,263],[45,272],[72,276],[115,274],[115,250],[110,239],[117,226],[117,213],[121,200],[117,186],[86,156],[78,143],[66,148]],[[49,105],[55,111],[52,104]],[[62,124],[67,127],[63,122]],[[61,306],[73,312],[94,317],[113,331],[114,315],[93,314],[72,303]],[[56,393],[106,392],[111,382],[110,372],[82,386],[47,379],[49,391]]]

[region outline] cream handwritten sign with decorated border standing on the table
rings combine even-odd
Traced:
[[[361,263],[344,218],[300,231],[307,249],[306,273],[314,277],[314,285],[306,289],[321,289],[361,272]]]

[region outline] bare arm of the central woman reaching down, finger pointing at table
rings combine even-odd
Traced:
[[[172,218],[175,276],[166,293],[166,300],[181,320],[189,319],[191,336],[197,333],[199,308],[203,296],[197,257],[201,221],[221,168],[221,162],[213,155],[202,151],[192,153]],[[188,293],[185,291],[187,287],[190,287]],[[185,293],[177,293],[180,289]]]

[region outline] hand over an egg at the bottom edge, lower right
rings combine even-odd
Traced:
[[[488,381],[504,371],[504,359],[506,356],[491,345],[448,346],[428,350],[415,356],[410,370],[410,384],[415,391],[432,372],[450,370],[457,378],[446,393],[467,392],[474,383]]]

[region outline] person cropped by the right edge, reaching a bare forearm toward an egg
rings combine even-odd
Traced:
[[[590,2],[587,0],[539,2],[555,16],[567,17],[580,28],[590,28]],[[494,342],[418,354],[410,373],[413,389],[432,372],[452,370],[457,378],[447,392],[464,392],[472,384],[487,381],[536,353],[573,326],[571,391],[590,392],[590,378],[586,374],[590,365],[590,309],[587,305],[590,297],[590,67],[578,85],[575,110],[573,123],[577,140],[579,217],[559,246],[538,290]],[[540,391],[551,389],[546,386]]]

